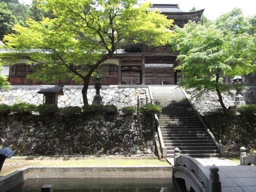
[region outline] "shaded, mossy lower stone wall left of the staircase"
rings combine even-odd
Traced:
[[[144,122],[139,116],[0,116],[0,148],[19,155],[153,153],[154,124]]]

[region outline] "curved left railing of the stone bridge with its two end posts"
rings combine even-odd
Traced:
[[[212,165],[207,169],[193,157],[180,155],[179,148],[174,149],[174,166],[186,167],[192,175],[196,176],[198,183],[204,185],[208,192],[221,192],[219,168],[217,166]]]

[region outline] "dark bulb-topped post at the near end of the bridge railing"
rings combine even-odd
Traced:
[[[210,189],[209,192],[221,192],[221,183],[219,176],[219,167],[212,165],[209,168],[210,170]]]

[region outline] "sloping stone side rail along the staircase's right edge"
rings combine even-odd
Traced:
[[[204,119],[201,117],[201,115],[197,112],[197,110],[195,109],[194,105],[192,104],[191,99],[188,97],[188,94],[185,92],[185,90],[180,87],[180,89],[182,90],[183,94],[185,95],[185,97],[188,99],[189,103],[191,104],[191,107],[194,109],[194,111],[196,112],[197,117],[199,118],[200,122],[203,124],[204,128],[206,129],[206,131],[209,133],[210,137],[212,138],[214,144],[216,145],[216,147],[219,149],[221,156],[225,156],[225,150],[223,148],[222,145],[220,145],[218,143],[218,141],[215,139],[214,135],[212,134],[211,130],[209,129],[209,127],[207,126],[207,124],[204,122]]]

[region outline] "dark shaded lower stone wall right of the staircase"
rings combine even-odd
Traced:
[[[256,118],[254,116],[212,114],[203,117],[227,153],[239,154],[244,146],[256,149]]]

